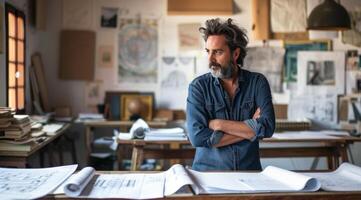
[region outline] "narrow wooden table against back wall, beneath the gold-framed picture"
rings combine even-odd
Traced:
[[[92,152],[93,130],[94,128],[120,128],[127,129],[133,125],[133,121],[85,121],[85,163],[89,164],[90,154]],[[167,126],[164,121],[148,121],[147,124],[152,128],[162,128]],[[119,149],[119,148],[118,148]],[[118,163],[121,165],[121,162]],[[118,165],[118,166],[119,166]]]

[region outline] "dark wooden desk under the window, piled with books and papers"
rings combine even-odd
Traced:
[[[44,141],[34,145],[30,151],[0,151],[0,166],[25,168],[28,163],[28,158],[31,155],[35,152],[41,151],[46,145],[62,136],[69,127],[70,124],[65,124],[54,135],[47,136]]]

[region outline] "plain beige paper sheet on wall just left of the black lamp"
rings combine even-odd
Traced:
[[[306,31],[306,19],[305,0],[271,1],[272,32],[304,32]]]

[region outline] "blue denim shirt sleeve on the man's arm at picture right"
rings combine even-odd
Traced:
[[[256,136],[258,139],[272,137],[275,130],[275,113],[272,103],[271,89],[263,75],[256,84],[256,106],[261,109],[261,115],[256,119]]]

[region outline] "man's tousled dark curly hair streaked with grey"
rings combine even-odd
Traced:
[[[227,21],[221,21],[219,18],[209,19],[206,21],[206,27],[200,27],[199,32],[203,34],[204,41],[207,41],[211,35],[224,35],[231,52],[240,48],[237,64],[243,66],[243,60],[247,55],[248,37],[243,28],[232,23],[231,18]]]

